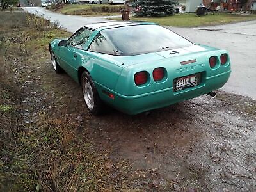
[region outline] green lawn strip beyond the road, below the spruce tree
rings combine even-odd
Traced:
[[[191,27],[256,20],[256,15],[237,15],[232,13],[221,13],[221,15],[205,15],[202,17],[198,17],[193,13],[184,13],[168,17],[131,17],[130,19],[136,21],[155,22],[163,26]],[[121,19],[111,18],[110,20]]]

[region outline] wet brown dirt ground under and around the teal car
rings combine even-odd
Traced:
[[[254,100],[217,91],[216,98],[202,95],[136,116],[111,108],[92,116],[80,86],[67,74],[56,74],[49,55],[36,55],[37,60],[26,65],[22,58],[9,58],[13,78],[22,77],[26,129],[40,124],[42,114],[72,121],[74,137],[92,143],[90,151],[102,154],[95,161],[104,159],[111,182],[124,180],[116,171],[120,162],[129,166],[125,174],[130,179],[140,172],[129,189],[119,190],[256,191]],[[58,191],[54,186],[51,190]]]

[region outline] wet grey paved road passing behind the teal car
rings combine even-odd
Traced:
[[[84,24],[106,21],[104,17],[61,15],[40,7],[26,10],[43,15],[52,22],[58,20],[63,28],[72,32]],[[232,74],[222,89],[256,100],[256,21],[200,28],[168,28],[192,42],[227,49],[232,60]]]

